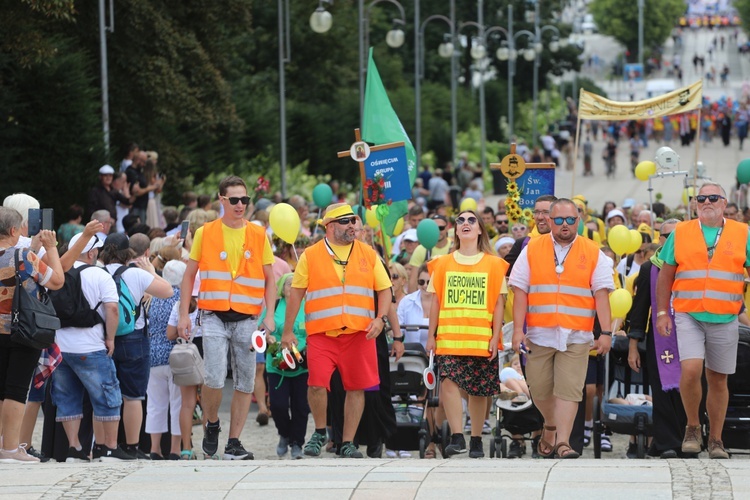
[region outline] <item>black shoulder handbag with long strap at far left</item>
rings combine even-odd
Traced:
[[[39,299],[23,287],[19,253],[16,249],[16,291],[13,295],[10,340],[32,349],[46,349],[55,343],[55,332],[60,329],[52,301],[43,287],[39,288]]]

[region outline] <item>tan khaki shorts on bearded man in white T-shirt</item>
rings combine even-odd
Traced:
[[[564,401],[583,399],[590,344],[568,344],[566,351],[558,351],[526,339],[526,346],[526,382],[533,399],[545,401],[553,395]]]

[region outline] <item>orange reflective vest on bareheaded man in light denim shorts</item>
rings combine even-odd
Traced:
[[[265,243],[263,228],[246,222],[245,253],[233,279],[224,248],[221,219],[204,224],[198,263],[201,277],[198,307],[208,311],[231,309],[243,314],[260,314],[266,285],[263,273]]]

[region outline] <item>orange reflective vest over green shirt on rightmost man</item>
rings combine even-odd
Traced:
[[[698,219],[680,222],[675,231],[674,310],[738,314],[745,283],[748,226],[725,220],[710,261]]]

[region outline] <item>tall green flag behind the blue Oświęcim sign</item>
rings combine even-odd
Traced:
[[[391,106],[391,101],[388,99],[385,87],[383,87],[383,81],[380,79],[378,68],[372,59],[372,48],[370,48],[370,57],[367,63],[362,140],[375,145],[403,141],[406,144],[406,163],[409,166],[409,188],[414,185],[414,179],[417,177],[417,153],[393,110],[393,106]],[[390,213],[383,221],[386,233],[393,235],[393,228],[396,226],[396,222],[406,215],[407,207],[406,201],[395,201],[391,204]]]

